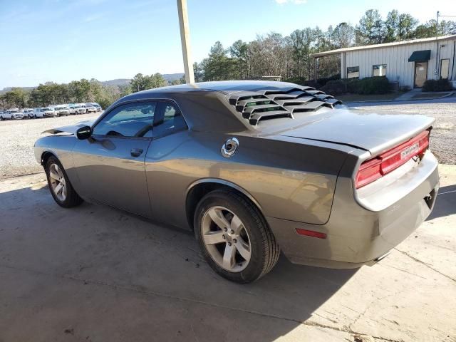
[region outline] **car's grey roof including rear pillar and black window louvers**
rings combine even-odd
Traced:
[[[175,100],[192,130],[226,133],[258,130],[260,121],[294,119],[341,103],[320,90],[294,83],[214,81],[143,90],[113,105],[145,99]]]

